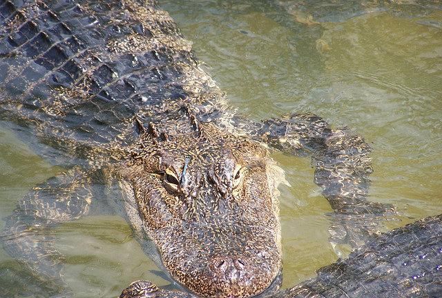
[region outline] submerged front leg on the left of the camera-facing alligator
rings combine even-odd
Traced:
[[[53,294],[64,291],[66,286],[61,275],[62,256],[55,248],[50,229],[88,212],[88,184],[89,178],[75,169],[48,179],[19,201],[1,232],[5,250]]]

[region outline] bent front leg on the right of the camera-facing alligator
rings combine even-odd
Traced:
[[[314,181],[334,209],[329,228],[332,244],[362,244],[377,231],[379,219],[393,211],[389,205],[367,200],[372,148],[349,130],[333,130],[320,117],[308,114],[247,126],[244,129],[273,148],[311,155]]]

